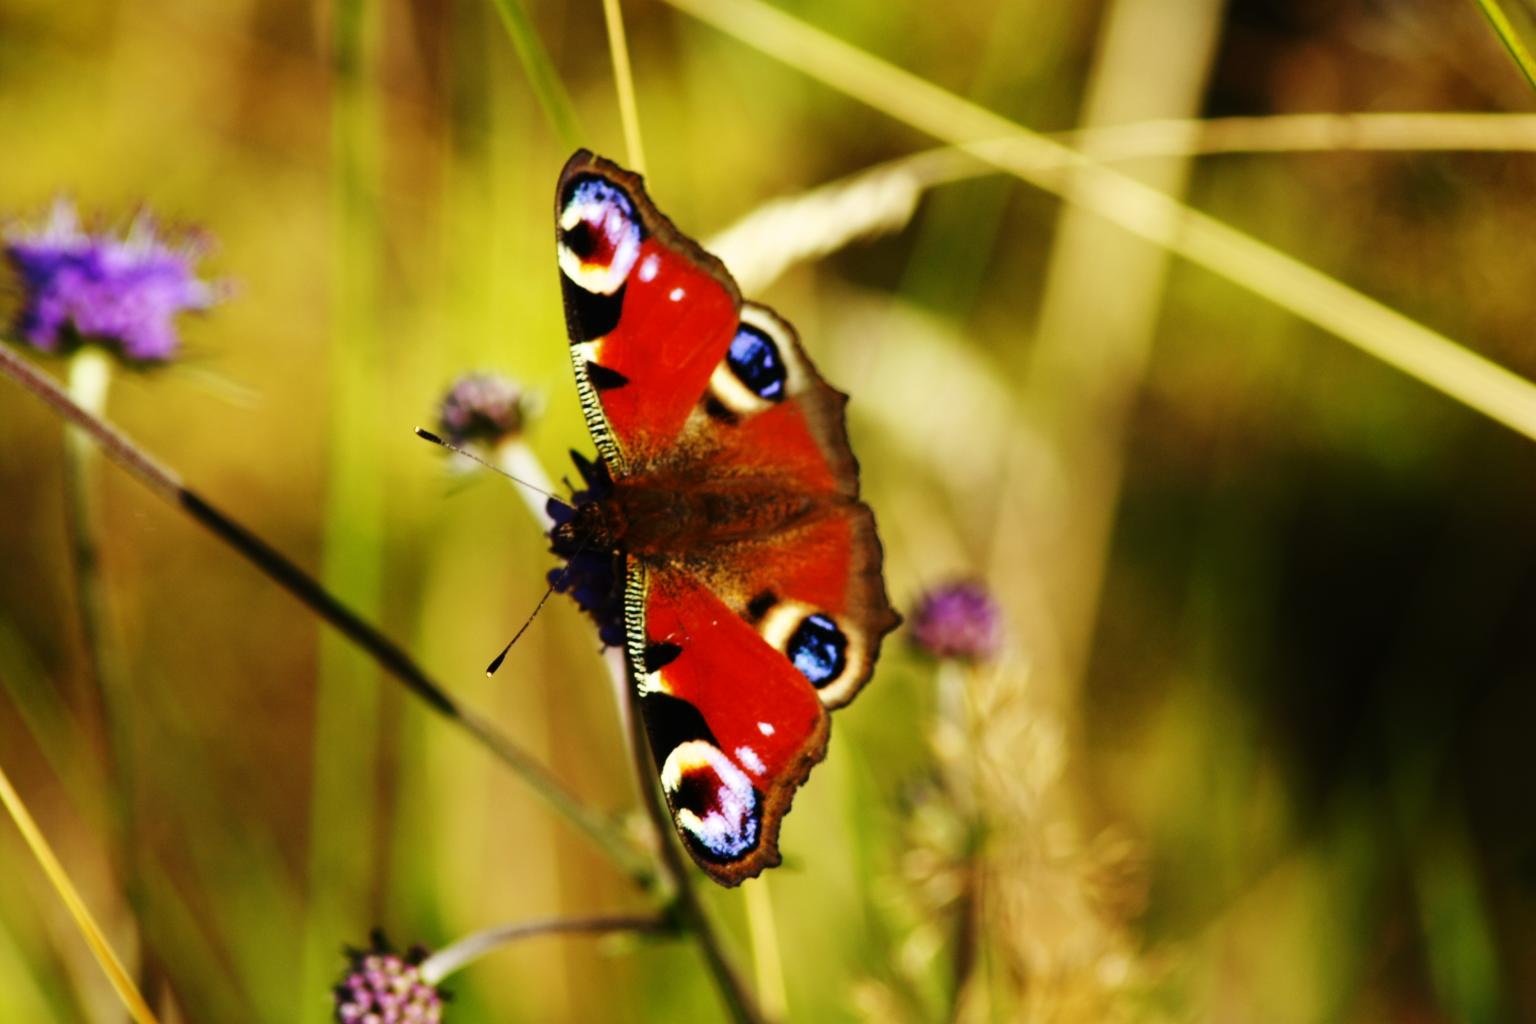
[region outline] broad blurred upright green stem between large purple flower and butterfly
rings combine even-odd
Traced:
[[[379,410],[386,393],[379,304],[384,15],[369,0],[336,0],[330,38],[330,345],[327,464],[319,576],[362,616],[384,594],[384,467]],[[307,898],[303,973],[293,996],[324,990],[336,935],[381,901],[375,837],[389,798],[381,785],[382,689],[376,666],[323,631],[312,705]]]

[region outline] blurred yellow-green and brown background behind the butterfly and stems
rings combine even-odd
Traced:
[[[542,593],[538,525],[412,438],[482,368],[541,396],[525,441],[554,476],[590,450],[550,224],[570,144],[516,9],[579,141],[624,160],[598,0],[3,0],[0,212],[35,221],[66,193],[103,226],[143,206],[217,238],[204,269],[232,295],[183,324],[174,367],[118,375],[109,418],[633,818],[573,606],[484,676]],[[624,9],[651,193],[699,238],[935,144],[673,6]],[[1533,103],[1470,0],[780,9],[1049,132]],[[1536,127],[1510,124],[1488,149],[1516,152],[1356,152],[1346,132],[1117,166],[1536,378],[1518,152]],[[750,883],[757,907],[705,894],[763,1003],[797,1021],[1536,1019],[1536,442],[1055,197],[952,177],[760,295],[852,393],[897,605],[974,576],[1008,622],[971,666],[894,636],[796,800],[785,866]],[[339,947],[373,926],[436,947],[648,906],[106,464],[103,699],[63,451],[0,382],[0,758],[166,1019],[326,1019]],[[124,1019],[9,823],[0,880],[0,1019]],[[458,1021],[720,1013],[687,941],[538,938],[447,987]]]

